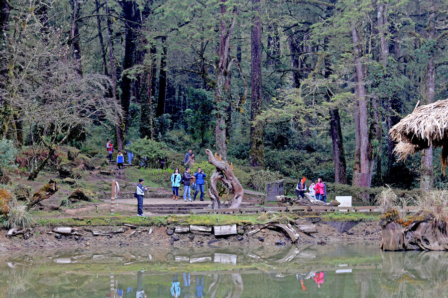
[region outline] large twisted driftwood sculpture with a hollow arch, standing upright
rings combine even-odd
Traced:
[[[233,175],[231,166],[225,161],[217,160],[211,150],[206,149],[206,153],[209,156],[209,162],[216,166],[212,177],[210,177],[209,196],[212,199],[212,206],[221,208],[221,200],[217,189],[218,181],[221,180],[227,186],[227,196],[229,191],[233,190],[233,196],[228,203],[229,208],[239,208],[243,199],[243,188],[238,178]]]

